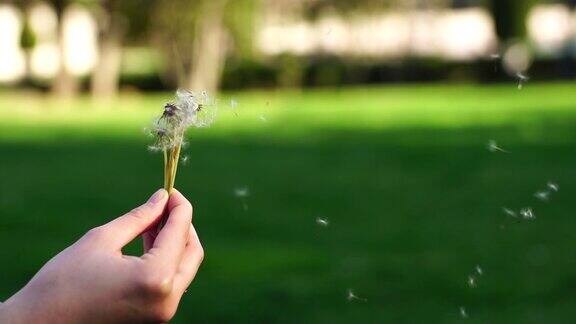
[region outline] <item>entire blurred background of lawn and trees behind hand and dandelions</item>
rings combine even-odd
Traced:
[[[142,129],[186,88],[219,118],[174,323],[574,321],[575,7],[0,1],[0,299],[161,186]]]

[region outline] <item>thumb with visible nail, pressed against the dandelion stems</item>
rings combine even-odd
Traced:
[[[118,249],[130,243],[160,219],[167,200],[168,193],[166,190],[160,189],[142,206],[101,226],[106,242]]]

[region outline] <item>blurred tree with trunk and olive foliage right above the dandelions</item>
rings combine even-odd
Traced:
[[[169,74],[177,76],[173,81],[191,90],[216,91],[229,51],[250,53],[246,48],[251,46],[245,45],[254,34],[250,27],[254,26],[257,3],[258,0],[157,1],[153,33],[168,57]]]

